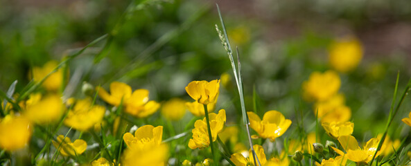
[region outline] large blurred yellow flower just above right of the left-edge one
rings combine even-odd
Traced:
[[[64,104],[59,95],[48,95],[44,98],[39,94],[30,95],[26,102],[24,115],[37,124],[49,124],[60,120]]]

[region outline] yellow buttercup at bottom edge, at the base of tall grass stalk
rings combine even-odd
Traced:
[[[265,165],[265,163],[267,163],[267,158],[265,158],[263,147],[261,147],[261,145],[254,145],[253,148],[254,148],[254,151],[256,152],[257,158],[259,158],[261,165]],[[241,153],[231,154],[230,160],[236,166],[254,165],[254,157],[253,157],[254,155],[252,155],[251,149],[248,154],[249,154],[248,157],[243,156],[243,154]]]

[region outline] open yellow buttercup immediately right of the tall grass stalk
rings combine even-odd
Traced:
[[[291,125],[291,120],[286,119],[279,111],[267,111],[264,113],[263,120],[254,112],[247,112],[250,118],[250,127],[254,129],[261,138],[275,138],[283,135]]]

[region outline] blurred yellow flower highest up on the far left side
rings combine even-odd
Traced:
[[[34,67],[33,68],[33,80],[35,82],[40,82],[46,75],[51,73],[55,67],[58,66],[58,62],[49,61],[42,68]],[[42,86],[48,91],[57,91],[63,80],[63,71],[62,68],[59,68],[58,71],[49,75],[49,77],[44,80]]]

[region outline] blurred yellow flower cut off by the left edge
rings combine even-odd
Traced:
[[[33,126],[24,117],[7,115],[0,120],[0,148],[15,151],[30,141]]]

